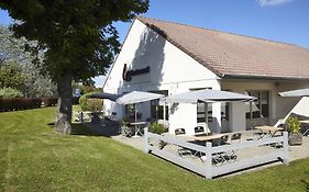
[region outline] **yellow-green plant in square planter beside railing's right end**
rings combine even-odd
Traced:
[[[287,120],[287,129],[289,132],[288,144],[301,145],[302,144],[302,135],[300,134],[300,122],[297,117],[289,117]]]

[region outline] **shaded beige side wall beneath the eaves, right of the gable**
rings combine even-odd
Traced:
[[[274,125],[277,120],[283,118],[300,100],[300,98],[282,98],[278,92],[294,89],[308,88],[308,81],[275,81],[275,80],[223,80],[221,82],[222,89],[244,93],[250,90],[267,90],[269,91],[269,120],[266,122]],[[245,104],[231,103],[230,104],[230,131],[244,129],[246,125],[245,120]]]

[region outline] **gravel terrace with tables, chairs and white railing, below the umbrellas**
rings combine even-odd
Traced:
[[[197,135],[192,136],[186,135],[185,128],[175,129],[175,134],[163,135],[152,134],[146,129],[143,137],[113,138],[141,150],[146,148],[151,154],[205,177],[205,172],[198,170],[205,170],[209,161],[212,171],[218,171],[212,177],[217,177],[235,170],[258,169],[258,166],[263,167],[265,163],[288,163],[309,156],[309,137],[304,137],[301,146],[288,146],[287,133],[284,134],[284,128],[280,127],[257,126],[251,131],[221,134],[201,134],[199,127],[196,128]]]

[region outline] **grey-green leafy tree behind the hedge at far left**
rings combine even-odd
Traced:
[[[15,38],[7,26],[0,26],[0,88],[15,88],[26,97],[54,95],[55,84],[48,75],[40,74],[42,63],[32,64],[35,57],[24,50],[27,44],[36,42]],[[42,60],[44,53],[41,52],[38,57]]]

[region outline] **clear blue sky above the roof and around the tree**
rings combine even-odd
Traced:
[[[309,48],[309,0],[151,0],[143,15]],[[9,23],[0,11],[0,24]],[[115,26],[123,42],[130,23]]]

